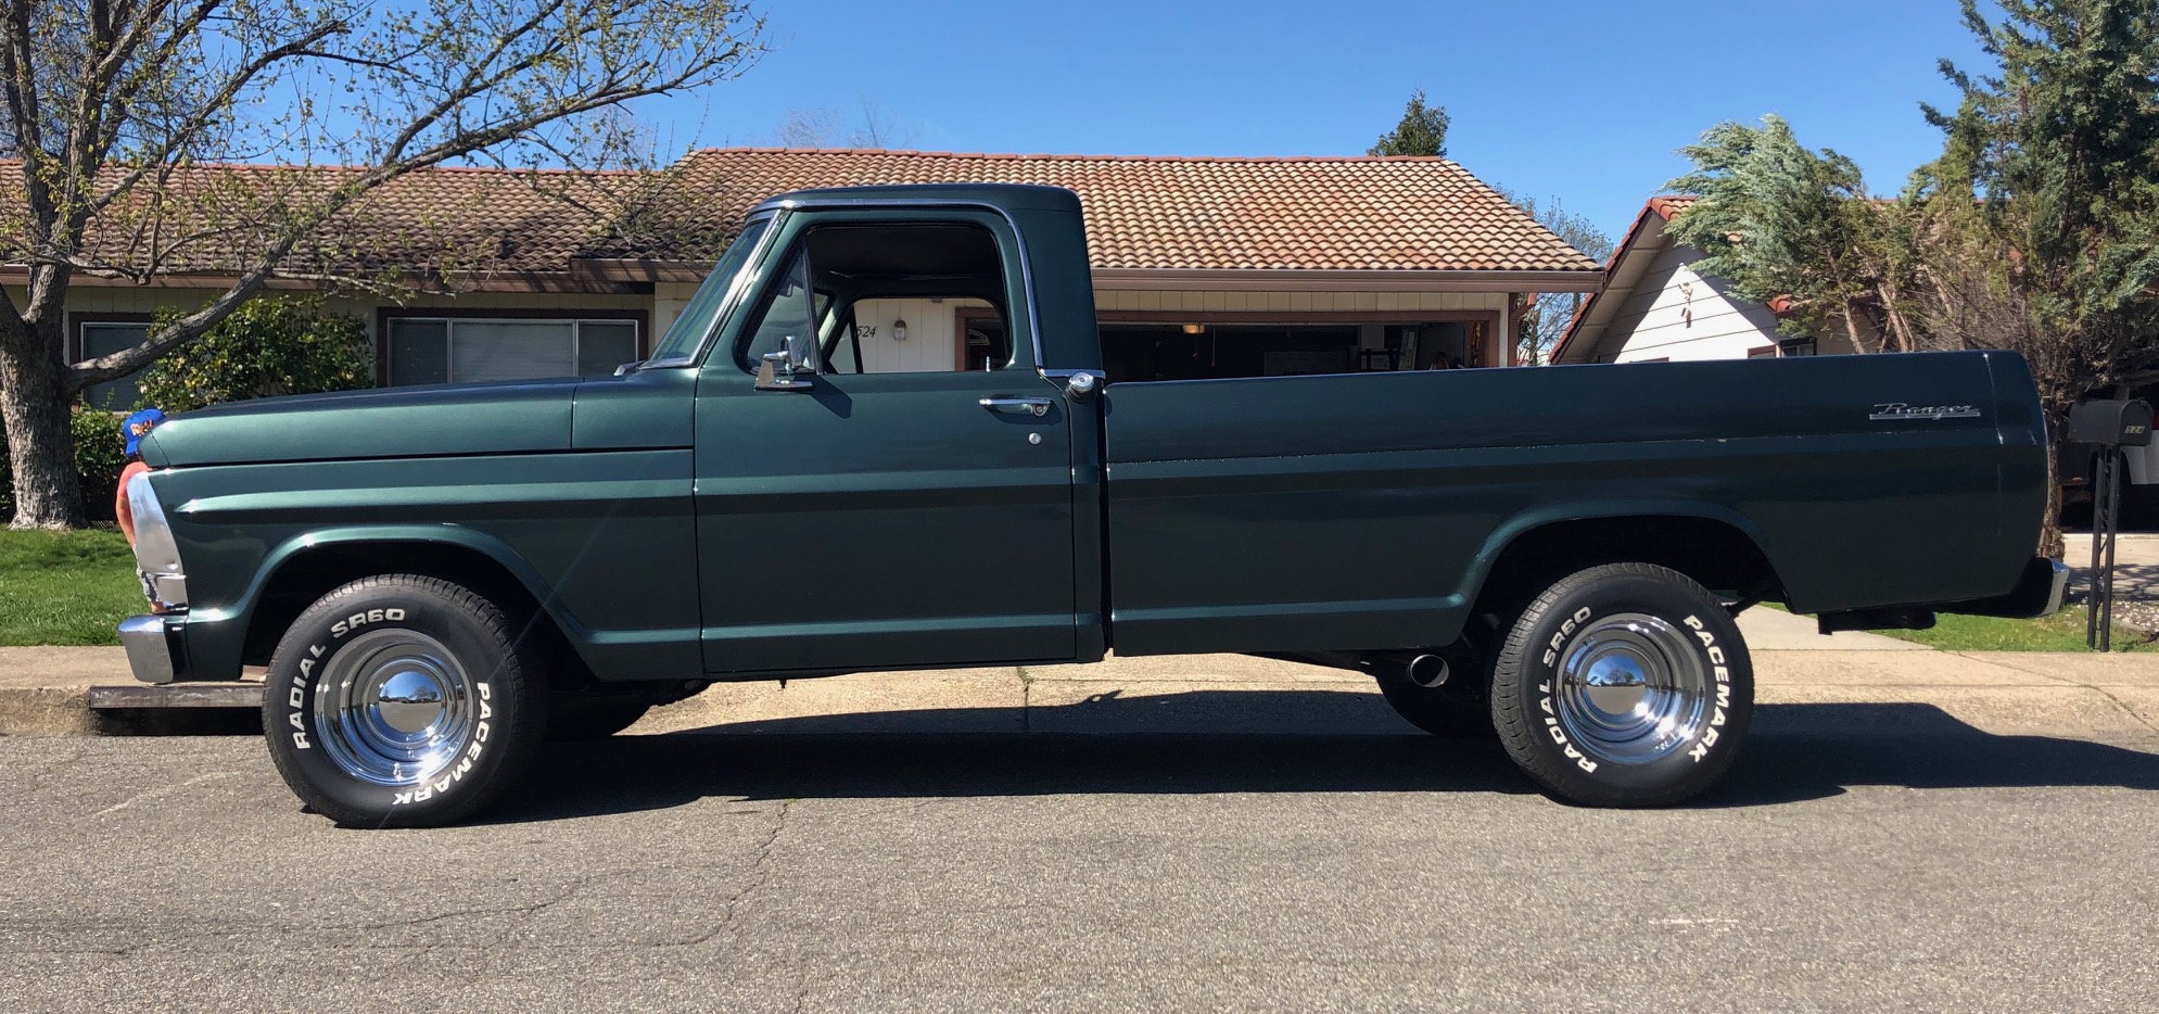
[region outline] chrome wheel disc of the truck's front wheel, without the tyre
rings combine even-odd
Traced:
[[[315,684],[315,738],[348,775],[410,785],[449,766],[473,740],[473,680],[440,641],[417,630],[369,630]]]

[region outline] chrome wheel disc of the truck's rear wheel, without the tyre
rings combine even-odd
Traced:
[[[1714,686],[1686,630],[1619,613],[1565,643],[1554,697],[1559,727],[1583,753],[1649,764],[1695,740]]]

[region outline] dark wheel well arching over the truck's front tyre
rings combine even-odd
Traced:
[[[371,574],[423,574],[469,587],[510,613],[510,621],[527,630],[525,636],[538,639],[538,654],[548,660],[551,682],[557,686],[592,682],[592,673],[570,647],[570,639],[563,636],[555,617],[540,608],[522,580],[479,550],[436,542],[317,546],[283,561],[255,602],[242,664],[270,664],[270,652],[307,606]]]

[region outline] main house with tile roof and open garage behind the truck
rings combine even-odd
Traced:
[[[304,192],[348,170],[205,173]],[[201,188],[207,205],[225,192],[214,181]],[[600,373],[654,347],[758,201],[959,181],[1080,194],[1112,380],[1503,367],[1524,302],[1606,278],[1444,157],[708,149],[656,175],[415,173],[330,222],[274,285],[339,283],[335,304],[369,324],[384,384]],[[207,300],[246,248],[240,235],[158,250],[142,233],[99,237],[110,263],[76,280],[71,354],[112,352],[138,341],[158,306]],[[445,248],[464,255],[445,261]],[[0,285],[11,274],[22,270],[0,263]],[[393,274],[425,291],[352,296]],[[911,354],[963,365],[967,306],[922,302],[890,300],[877,311],[892,321],[857,324],[890,334],[905,319],[922,341]],[[948,354],[920,352],[931,343]],[[108,406],[132,397],[125,382],[93,395]]]

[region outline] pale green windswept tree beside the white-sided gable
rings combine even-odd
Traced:
[[[1665,186],[1701,198],[1667,233],[1706,255],[1697,270],[1749,300],[1790,300],[1788,332],[1842,326],[1861,352],[1913,347],[1896,298],[1911,272],[1900,211],[1868,198],[1852,160],[1807,151],[1775,114],[1719,123],[1680,153],[1695,170]]]

